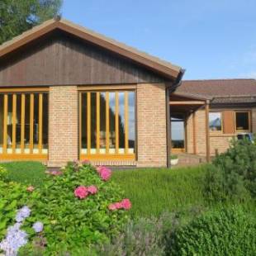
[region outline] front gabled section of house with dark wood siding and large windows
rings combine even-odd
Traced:
[[[183,69],[65,20],[0,46],[0,159],[167,166]]]

